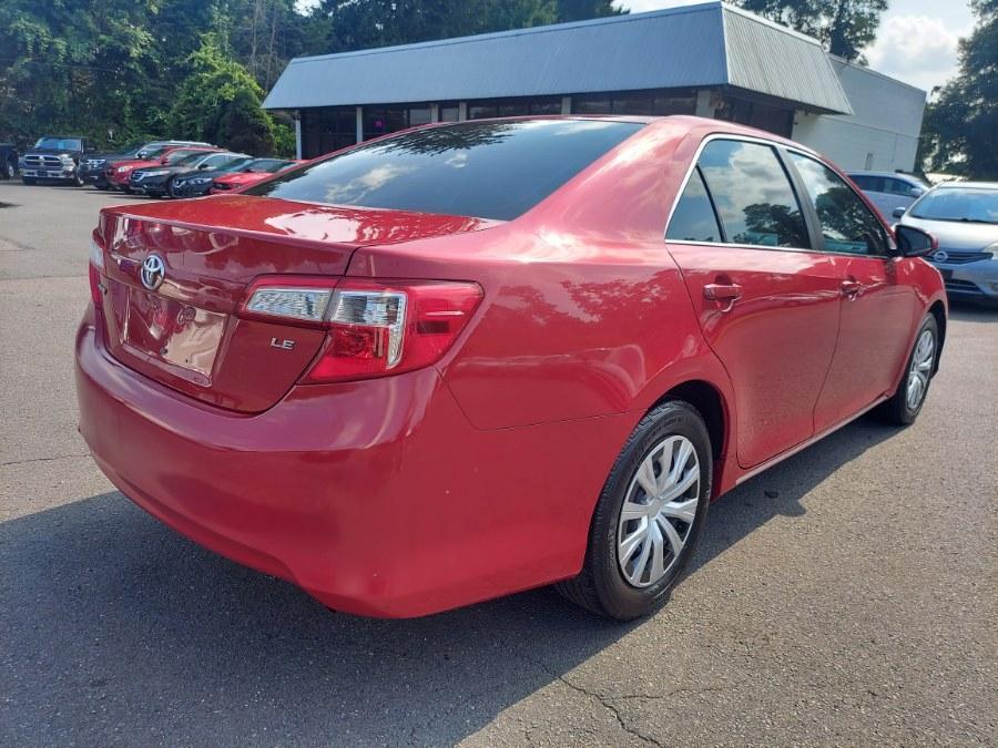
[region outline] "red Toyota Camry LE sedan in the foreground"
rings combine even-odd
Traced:
[[[875,406],[918,416],[946,297],[896,230],[713,120],[415,129],[102,211],[80,430],[140,506],[332,608],[557,583],[633,618],[713,499]]]

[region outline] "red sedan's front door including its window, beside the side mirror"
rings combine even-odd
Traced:
[[[893,390],[916,308],[900,264],[920,260],[893,256],[883,224],[833,170],[803,153],[788,160],[809,196],[824,252],[846,264],[838,342],[814,411],[823,431]]]

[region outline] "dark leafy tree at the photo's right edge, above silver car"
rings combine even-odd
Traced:
[[[977,24],[960,70],[929,105],[920,153],[928,171],[998,180],[998,0],[971,0]]]

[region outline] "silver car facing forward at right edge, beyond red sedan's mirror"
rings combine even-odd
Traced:
[[[998,305],[998,182],[940,184],[894,215],[939,239],[926,259],[950,298]]]

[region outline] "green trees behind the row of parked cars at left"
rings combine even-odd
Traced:
[[[611,0],[0,0],[0,141],[196,137],[294,152],[258,111],[301,54],[617,12]]]

